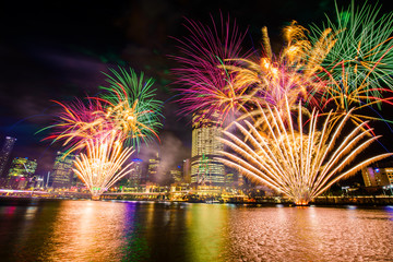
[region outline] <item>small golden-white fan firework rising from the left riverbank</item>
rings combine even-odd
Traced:
[[[122,166],[133,151],[131,147],[123,148],[116,132],[88,140],[86,152],[76,157],[73,170],[86,184],[93,199],[99,199],[100,194],[131,171],[132,162]]]

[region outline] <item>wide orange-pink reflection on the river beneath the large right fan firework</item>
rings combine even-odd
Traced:
[[[392,214],[383,210],[273,207],[250,213],[229,222],[229,260],[390,261],[393,254]]]

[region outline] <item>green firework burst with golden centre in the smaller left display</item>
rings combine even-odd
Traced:
[[[105,91],[100,96],[105,118],[127,142],[139,150],[141,141],[147,143],[154,138],[158,139],[163,103],[154,98],[154,81],[144,81],[143,73],[138,76],[132,69],[128,72],[121,68],[119,72],[110,71],[112,76],[106,74],[110,86],[100,86]]]

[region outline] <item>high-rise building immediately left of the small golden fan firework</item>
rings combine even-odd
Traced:
[[[62,152],[58,152],[52,172],[49,178],[49,187],[52,188],[71,188],[73,183],[74,172],[73,162],[75,159],[75,155],[68,154]]]

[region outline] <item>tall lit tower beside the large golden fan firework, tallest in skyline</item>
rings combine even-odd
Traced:
[[[195,114],[192,119],[191,183],[223,186],[224,165],[214,159],[223,150],[218,115]]]

